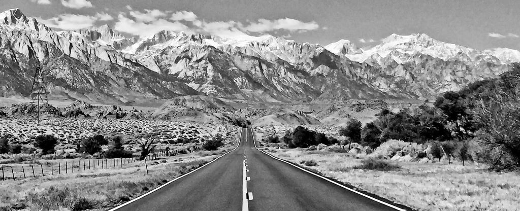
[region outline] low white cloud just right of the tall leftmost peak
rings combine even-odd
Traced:
[[[58,28],[63,30],[77,30],[87,27],[92,27],[98,20],[94,16],[83,16],[74,14],[62,14],[58,17],[42,19],[36,18],[41,23],[47,25],[47,27]]]

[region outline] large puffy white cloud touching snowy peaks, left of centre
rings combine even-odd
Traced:
[[[186,25],[178,21],[170,22],[165,19],[157,19],[145,23],[139,20],[134,21],[122,14],[118,16],[118,21],[115,22],[114,29],[120,32],[138,35],[141,37],[150,36],[162,30],[175,32],[190,31]]]

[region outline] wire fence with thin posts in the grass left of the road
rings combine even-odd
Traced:
[[[148,164],[147,161],[156,160],[159,157],[175,156],[180,153],[192,153],[200,150],[200,146],[192,147],[185,150],[160,150],[148,154],[144,162],[146,172],[148,175]],[[80,159],[77,161],[63,161],[54,162],[50,161],[46,164],[22,164],[16,166],[2,166],[0,173],[2,174],[2,180],[17,180],[26,179],[30,177],[45,177],[49,175],[63,175],[72,173],[86,172],[87,170],[97,169],[123,169],[129,167],[135,167],[135,163],[139,163],[140,156],[122,157],[116,159]],[[134,165],[131,165],[134,164]]]

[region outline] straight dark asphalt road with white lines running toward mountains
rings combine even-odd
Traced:
[[[245,156],[244,156],[245,154]],[[244,200],[244,157],[247,192]],[[247,202],[244,203],[243,202]],[[242,206],[246,204],[246,206]],[[215,162],[116,210],[396,210],[257,150],[250,128]]]

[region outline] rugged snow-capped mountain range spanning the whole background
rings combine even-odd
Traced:
[[[429,99],[498,76],[517,50],[477,50],[426,34],[358,48],[270,35],[236,40],[161,31],[127,37],[108,25],[55,31],[19,9],[0,13],[0,97],[28,97],[41,65],[50,98],[145,102],[206,95],[235,101]]]

